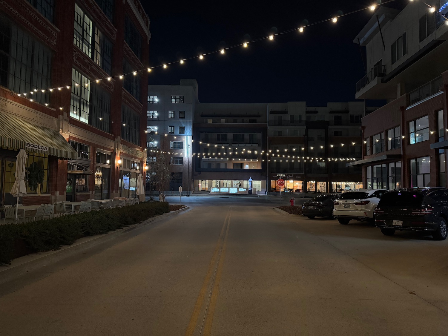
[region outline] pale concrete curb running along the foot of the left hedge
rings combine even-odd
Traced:
[[[181,211],[185,211],[190,207],[185,207],[176,211],[171,211],[164,215],[159,215],[142,223],[133,224],[125,228],[121,228],[115,231],[111,231],[102,235],[95,235],[89,237],[82,237],[75,241],[72,245],[63,245],[59,250],[38,252],[24,255],[23,257],[13,259],[11,265],[0,266],[0,284],[13,280],[22,274],[34,271],[39,267],[47,266],[52,263],[56,263],[64,258],[67,258],[75,253],[89,249],[98,244],[102,244],[106,241],[112,240],[113,238],[122,236],[126,233],[132,232],[139,228],[143,228],[152,222],[171,217]]]

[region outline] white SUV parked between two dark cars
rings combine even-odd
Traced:
[[[387,192],[387,189],[359,189],[343,193],[334,202],[333,216],[340,224],[349,224],[350,220],[373,220],[375,207]]]

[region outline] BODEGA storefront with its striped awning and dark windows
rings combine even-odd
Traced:
[[[58,159],[76,160],[78,153],[58,130],[0,113],[1,205],[16,202],[10,191],[15,181],[16,156],[20,149],[25,149],[27,155],[25,173],[27,195],[23,198],[30,199],[35,196],[41,201],[45,198],[46,201],[42,203],[51,202],[49,186],[59,177],[57,171],[51,171],[50,167],[57,167]]]

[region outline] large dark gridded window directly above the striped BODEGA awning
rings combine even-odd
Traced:
[[[51,69],[51,51],[0,15],[0,85],[49,103],[50,93],[40,89],[51,87]]]

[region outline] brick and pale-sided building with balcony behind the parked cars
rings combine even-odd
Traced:
[[[367,74],[356,98],[387,99],[362,118],[368,188],[447,186],[448,1],[381,7],[354,43],[366,47]]]

